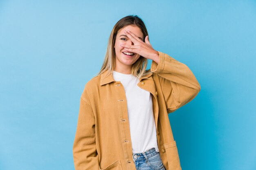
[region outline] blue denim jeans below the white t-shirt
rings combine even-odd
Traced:
[[[132,158],[136,170],[166,170],[160,154],[155,151],[155,148],[146,150],[143,153],[133,153]]]

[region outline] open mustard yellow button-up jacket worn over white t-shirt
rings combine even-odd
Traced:
[[[159,52],[159,51],[158,51]],[[137,84],[151,93],[157,144],[166,170],[181,170],[168,113],[190,102],[201,87],[191,70],[159,52],[153,73]],[[80,99],[73,159],[76,170],[136,170],[132,160],[124,87],[107,72],[86,83]]]

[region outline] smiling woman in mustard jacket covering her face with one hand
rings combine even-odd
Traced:
[[[146,70],[151,59],[150,70]],[[191,70],[150,45],[144,22],[115,24],[97,76],[80,100],[76,170],[181,170],[168,113],[200,91]]]

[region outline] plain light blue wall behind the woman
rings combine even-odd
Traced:
[[[126,15],[201,85],[169,114],[182,169],[255,170],[255,0],[1,0],[0,170],[74,169],[81,93]]]

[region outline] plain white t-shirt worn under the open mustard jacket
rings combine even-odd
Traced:
[[[132,74],[113,71],[113,78],[120,81],[125,89],[132,153],[142,153],[151,148],[159,152],[150,92],[137,86],[139,78]]]

